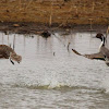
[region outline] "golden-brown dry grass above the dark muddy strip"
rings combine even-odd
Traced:
[[[59,25],[109,24],[108,0],[21,1],[0,1],[0,21]]]

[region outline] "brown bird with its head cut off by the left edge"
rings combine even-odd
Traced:
[[[7,45],[0,45],[0,59],[10,59],[12,64],[14,64],[13,60],[17,63],[22,61],[22,57]]]

